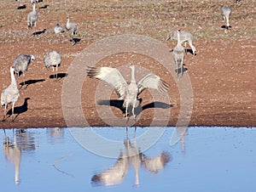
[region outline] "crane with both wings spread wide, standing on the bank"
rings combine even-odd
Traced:
[[[132,106],[132,114],[135,119],[135,105],[137,103],[137,97],[146,88],[157,89],[160,93],[165,93],[169,85],[160,79],[160,76],[156,76],[153,73],[149,73],[144,76],[139,82],[135,80],[135,66],[131,65],[131,83],[128,85],[125,82],[124,77],[120,72],[111,67],[90,67],[87,66],[87,75],[92,78],[100,79],[104,82],[108,82],[118,94],[119,99],[125,99],[123,106],[125,107],[125,116],[128,121],[128,107]]]

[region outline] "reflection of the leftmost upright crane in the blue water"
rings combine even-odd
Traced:
[[[14,164],[15,166],[15,184],[19,184],[19,173],[20,173],[20,158],[21,150],[20,146],[16,143],[16,135],[13,136],[13,141],[6,137],[3,140],[3,154],[5,158]]]

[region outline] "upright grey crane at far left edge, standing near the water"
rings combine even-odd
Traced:
[[[8,104],[12,104],[12,115],[14,114],[15,110],[15,102],[20,98],[19,89],[17,88],[17,82],[15,80],[15,67],[11,66],[9,68],[11,74],[11,83],[9,87],[4,88],[1,94],[1,105],[4,104],[4,114],[3,114],[3,121],[5,120],[6,116],[6,109]],[[14,121],[14,117],[13,117]]]

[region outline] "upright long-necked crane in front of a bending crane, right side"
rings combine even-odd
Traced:
[[[177,45],[173,48],[173,59],[175,64],[177,65],[177,76],[178,76],[178,68],[181,67],[181,74],[183,75],[183,59],[185,57],[185,49],[182,46],[182,42],[180,40],[180,31],[177,31]]]

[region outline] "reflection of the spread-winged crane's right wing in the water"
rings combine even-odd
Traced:
[[[142,164],[148,172],[157,173],[166,166],[166,163],[171,161],[171,156],[167,152],[162,152],[159,156],[148,158],[142,155]]]

